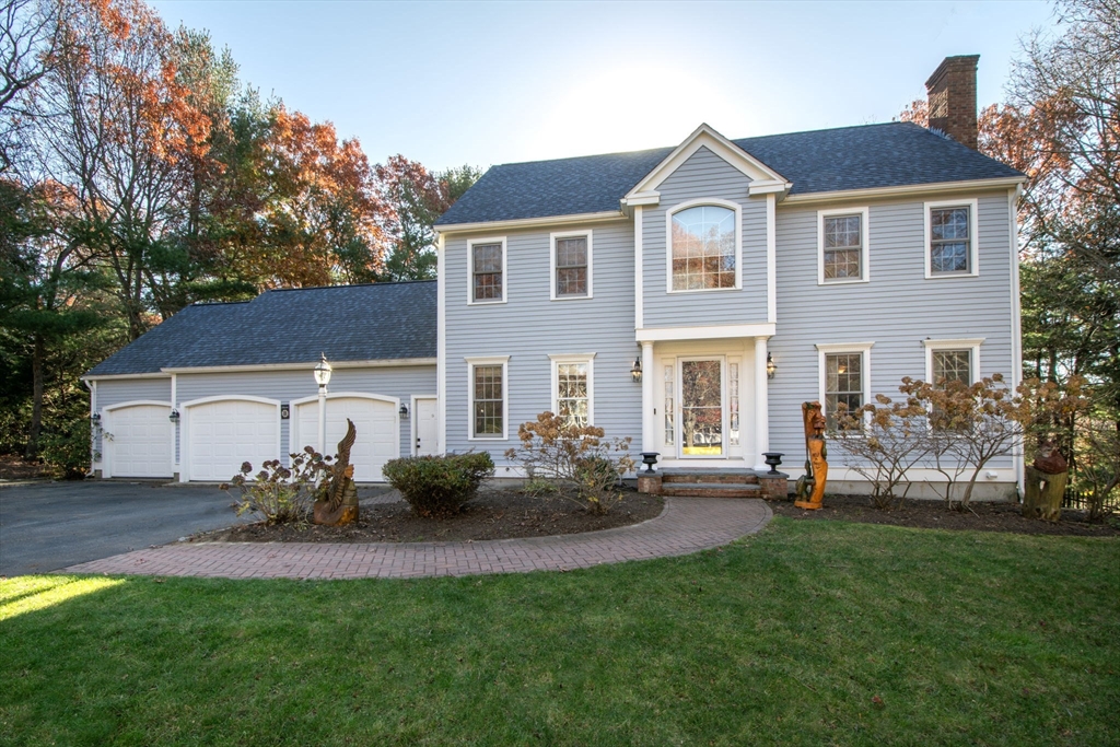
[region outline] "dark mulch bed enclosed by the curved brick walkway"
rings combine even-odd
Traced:
[[[403,501],[361,503],[358,520],[346,526],[315,524],[269,526],[243,524],[197,534],[192,542],[461,542],[596,532],[655,519],[659,496],[623,494],[605,516],[596,516],[561,497],[531,497],[512,489],[479,491],[463,513],[449,519],[420,519]]]

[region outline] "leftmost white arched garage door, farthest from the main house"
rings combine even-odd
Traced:
[[[171,476],[170,405],[133,404],[108,412],[104,449],[112,477]]]

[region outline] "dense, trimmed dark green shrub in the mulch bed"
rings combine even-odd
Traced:
[[[404,457],[389,461],[381,471],[414,514],[442,517],[459,513],[475,497],[483,480],[494,476],[494,460],[486,451]]]

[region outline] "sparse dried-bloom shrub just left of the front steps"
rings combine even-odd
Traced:
[[[576,426],[551,412],[522,423],[517,438],[521,448],[505,456],[522,465],[531,486],[551,479],[560,495],[575,495],[576,503],[592,514],[605,514],[622,499],[618,480],[634,469],[629,438],[608,442],[601,428]]]

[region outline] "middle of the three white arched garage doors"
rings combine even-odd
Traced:
[[[277,407],[251,400],[221,400],[187,408],[193,480],[224,483],[253,466],[251,475],[270,459],[279,458],[280,431]]]

